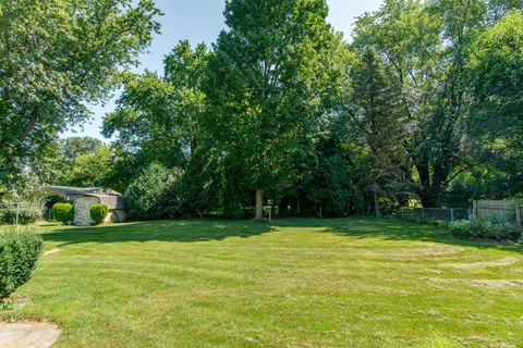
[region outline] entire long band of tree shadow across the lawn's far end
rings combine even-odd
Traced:
[[[381,238],[387,240],[412,240],[440,243],[453,246],[474,247],[523,252],[523,247],[491,241],[452,238],[446,227],[418,224],[393,219],[281,219],[272,223],[222,220],[172,220],[134,222],[98,227],[62,227],[44,234],[47,241],[68,246],[82,243],[173,241],[198,243],[224,240],[230,237],[248,238],[271,233],[277,227],[320,228],[353,238]]]

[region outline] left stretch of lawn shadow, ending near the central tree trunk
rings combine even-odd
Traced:
[[[248,221],[153,221],[114,224],[97,227],[62,227],[42,234],[44,240],[61,247],[83,243],[174,241],[198,243],[248,238],[270,233],[271,226]]]

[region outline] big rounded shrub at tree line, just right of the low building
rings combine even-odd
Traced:
[[[131,219],[156,220],[166,216],[162,197],[169,176],[167,167],[151,163],[129,185],[124,197]]]

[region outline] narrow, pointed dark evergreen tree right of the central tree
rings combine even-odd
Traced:
[[[405,120],[399,86],[381,58],[372,49],[363,51],[352,66],[352,90],[346,105],[349,127],[363,154],[360,170],[364,191],[373,197],[374,212],[380,215],[380,197],[396,198],[406,186],[408,156]],[[403,188],[404,190],[404,188]]]

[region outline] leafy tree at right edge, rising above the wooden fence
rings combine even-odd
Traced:
[[[472,53],[476,103],[470,128],[489,171],[485,195],[523,191],[523,12],[514,10],[476,39]]]

